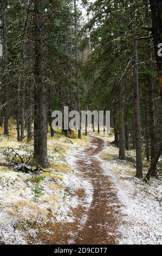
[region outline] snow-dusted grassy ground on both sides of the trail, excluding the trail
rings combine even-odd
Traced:
[[[105,174],[113,182],[121,204],[119,239],[116,241],[126,245],[162,244],[161,178],[151,179],[151,186],[135,178],[133,163],[118,160],[119,149],[111,143],[113,137],[102,138],[105,139],[105,149],[98,159]],[[89,140],[74,141],[73,144],[67,144],[64,138],[60,138],[48,142],[52,172],[40,182],[44,191],[38,202],[33,200],[35,184],[31,174],[0,168],[0,243],[26,244],[30,239],[37,241],[40,225],[73,222],[72,209],[81,203],[76,193],[80,188],[86,194],[85,208],[88,214],[93,200],[93,186],[77,170],[76,155],[88,161],[81,150]],[[134,151],[127,151],[127,155],[134,158]],[[82,225],[85,222],[86,215]]]

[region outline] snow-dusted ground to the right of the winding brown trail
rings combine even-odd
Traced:
[[[112,138],[107,138],[101,157],[108,159],[102,160],[102,166],[113,181],[121,203],[119,243],[161,245],[162,180],[151,179],[149,186],[135,178],[133,164],[114,157],[118,155],[118,149],[110,142]]]

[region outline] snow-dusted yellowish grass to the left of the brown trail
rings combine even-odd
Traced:
[[[12,141],[10,143],[13,144]],[[30,239],[39,243],[36,237],[41,225],[73,222],[72,208],[79,204],[75,192],[81,186],[81,180],[68,164],[68,155],[73,156],[86,144],[86,140],[77,142],[77,139],[68,144],[65,138],[48,141],[51,172],[47,175],[42,173],[44,178],[38,184],[32,174],[0,167],[0,244],[27,244]],[[19,154],[24,155],[25,152],[20,150]],[[3,153],[1,161],[5,161]],[[43,187],[37,201],[33,192],[36,186]]]

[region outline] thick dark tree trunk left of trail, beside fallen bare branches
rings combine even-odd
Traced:
[[[48,166],[47,157],[47,111],[46,87],[44,84],[43,59],[43,1],[35,0],[35,121],[34,157],[43,167]]]

